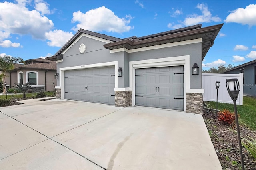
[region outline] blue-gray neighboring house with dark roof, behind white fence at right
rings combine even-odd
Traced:
[[[224,71],[225,74],[244,73],[244,95],[256,97],[256,60]],[[242,85],[240,85],[242,87]]]

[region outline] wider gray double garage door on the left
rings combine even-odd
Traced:
[[[64,71],[64,99],[115,104],[115,67]]]

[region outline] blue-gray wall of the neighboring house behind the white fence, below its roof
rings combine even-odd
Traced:
[[[224,74],[239,74],[240,69],[243,69],[243,68],[228,71]],[[244,95],[250,95],[250,96],[256,97],[255,69],[256,69],[256,64],[252,64],[244,67],[244,85],[243,85]]]

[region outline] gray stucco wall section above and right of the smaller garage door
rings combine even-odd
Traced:
[[[180,45],[175,47],[129,53],[129,61],[138,61],[138,60],[145,60],[145,59],[165,58],[165,57],[177,57],[182,55],[190,55],[190,69],[191,69],[190,88],[201,89],[202,88],[201,43],[194,43],[189,45]],[[198,64],[199,75],[192,75],[192,67],[194,63]]]

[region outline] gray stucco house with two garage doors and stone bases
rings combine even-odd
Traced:
[[[222,25],[125,39],[80,29],[48,58],[57,62],[57,98],[202,113],[202,60]]]

